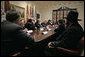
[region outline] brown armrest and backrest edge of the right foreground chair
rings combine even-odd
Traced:
[[[83,49],[84,49],[84,37],[82,37],[80,39],[79,44],[77,46],[77,50],[69,50],[69,49],[66,49],[66,48],[57,47],[57,50],[59,50],[59,51],[63,51],[67,54],[77,55],[77,56],[81,55]]]

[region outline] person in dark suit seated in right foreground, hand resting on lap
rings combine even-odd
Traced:
[[[75,50],[79,40],[84,36],[84,32],[78,23],[78,12],[70,11],[67,16],[67,28],[57,37],[56,41],[48,43],[48,47],[63,47],[70,50]],[[51,52],[52,53],[52,52]]]

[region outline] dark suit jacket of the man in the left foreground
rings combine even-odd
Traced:
[[[34,39],[19,25],[8,21],[1,23],[1,55],[11,55],[12,52],[20,51],[33,43]]]

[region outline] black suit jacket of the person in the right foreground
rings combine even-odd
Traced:
[[[56,41],[52,42],[52,46],[60,46],[67,49],[76,49],[79,40],[84,36],[83,29],[79,24],[69,26]]]

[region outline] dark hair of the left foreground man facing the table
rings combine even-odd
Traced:
[[[8,11],[6,14],[6,20],[13,22],[14,20],[18,19],[20,17],[20,15],[18,14],[17,11]]]

